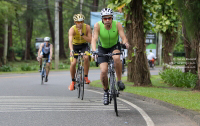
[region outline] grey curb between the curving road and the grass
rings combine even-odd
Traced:
[[[93,89],[93,90],[98,90],[98,91],[103,92],[102,88],[89,86],[88,89]],[[139,99],[139,100],[142,100],[142,101],[154,103],[154,104],[157,104],[157,105],[160,105],[160,106],[164,106],[168,109],[176,111],[177,113],[179,113],[181,115],[188,117],[189,119],[196,122],[197,125],[200,126],[200,113],[198,113],[196,111],[181,108],[179,106],[175,106],[173,104],[170,104],[170,103],[167,103],[167,102],[164,102],[164,101],[161,101],[161,100],[157,100],[157,99],[154,99],[154,98],[148,98],[148,97],[137,95],[137,94],[127,93],[127,92],[120,92],[120,94],[123,95],[123,97],[127,96],[127,97],[131,97],[131,98]]]

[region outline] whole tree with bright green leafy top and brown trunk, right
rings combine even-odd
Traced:
[[[154,31],[160,32],[163,36],[163,62],[173,62],[174,46],[178,38],[180,20],[178,12],[172,0],[154,0],[152,2]],[[166,66],[163,67],[165,69]]]

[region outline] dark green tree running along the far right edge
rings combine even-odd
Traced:
[[[187,35],[191,44],[196,47],[196,64],[198,70],[198,81],[196,83],[195,89],[200,90],[200,1],[199,0],[174,0],[179,12],[182,14],[181,18],[184,22]]]

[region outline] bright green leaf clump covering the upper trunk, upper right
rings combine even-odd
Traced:
[[[155,24],[153,31],[161,33],[166,31],[177,32],[180,21],[172,0],[154,0],[151,12],[153,15],[152,22]]]

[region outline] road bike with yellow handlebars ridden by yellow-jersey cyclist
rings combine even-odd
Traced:
[[[77,70],[76,70],[76,74],[75,74],[75,79],[76,79],[76,84],[74,85],[75,89],[77,89],[78,92],[78,98],[81,98],[81,100],[83,100],[84,97],[84,84],[85,84],[85,80],[84,80],[84,55],[91,55],[89,52],[85,52],[85,53],[74,53],[75,56],[78,56],[77,58]]]

